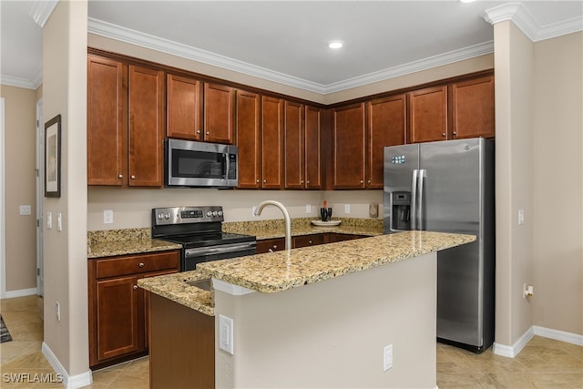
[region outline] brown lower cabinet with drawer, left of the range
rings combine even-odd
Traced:
[[[138,279],[179,271],[179,251],[88,261],[89,365],[148,352],[148,296]]]

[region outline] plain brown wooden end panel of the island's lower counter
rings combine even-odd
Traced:
[[[215,318],[155,293],[149,310],[149,387],[214,387]]]

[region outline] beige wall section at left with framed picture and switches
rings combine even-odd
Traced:
[[[60,114],[62,120],[61,197],[43,203],[53,214],[53,228],[44,230],[44,341],[70,377],[89,372],[86,31],[87,2],[59,2],[43,28],[44,117]],[[56,228],[59,213],[62,231]]]

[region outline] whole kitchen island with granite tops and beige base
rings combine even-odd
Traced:
[[[433,388],[436,251],[475,239],[407,231],[140,280],[151,292],[151,387],[164,343],[165,355],[186,363],[172,372],[173,387],[196,386],[187,370],[206,355],[216,387]],[[202,278],[212,291],[185,282]],[[169,331],[185,340],[174,336],[176,353],[157,339]]]

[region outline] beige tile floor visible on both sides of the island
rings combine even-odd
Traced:
[[[36,296],[2,300],[0,312],[13,341],[0,344],[0,387],[63,388],[63,384],[9,383],[5,374],[56,373],[40,352],[43,322]],[[50,375],[49,375],[50,377]],[[38,381],[38,380],[37,380]],[[447,388],[583,388],[583,347],[535,336],[516,358],[470,353],[437,343],[437,385]],[[148,357],[93,372],[87,388],[148,388]]]

